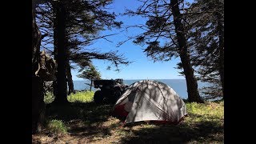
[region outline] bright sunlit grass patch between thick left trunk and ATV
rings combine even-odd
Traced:
[[[67,97],[69,102],[92,102],[94,99],[94,91],[77,92]]]

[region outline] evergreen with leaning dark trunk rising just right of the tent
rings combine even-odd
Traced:
[[[138,10],[127,10],[126,14],[147,18],[146,25],[138,26],[145,30],[134,40],[137,44],[146,44],[144,52],[154,61],[170,61],[173,56],[181,58],[182,69],[186,77],[189,102],[203,102],[198,93],[197,79],[191,65],[188,50],[187,31],[183,18],[183,1],[143,0]],[[162,43],[161,40],[166,42]]]

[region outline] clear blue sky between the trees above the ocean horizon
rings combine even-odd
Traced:
[[[115,14],[124,12],[125,9],[134,10],[139,6],[136,0],[114,0],[114,3],[109,6],[110,11],[114,11]],[[128,17],[118,16],[117,21],[122,21],[124,26],[136,25],[139,23],[145,23],[146,20],[140,17]],[[106,30],[102,34],[115,34],[120,30]],[[142,30],[134,29],[122,32],[120,34],[108,37],[112,42],[108,42],[104,39],[95,41],[90,47],[97,48],[102,52],[108,52],[110,50],[118,50],[119,54],[123,54],[127,60],[133,61],[129,66],[120,66],[120,71],[114,71],[112,66],[111,70],[106,70],[107,66],[110,66],[111,62],[102,60],[93,60],[94,66],[102,74],[102,78],[123,78],[123,79],[184,79],[183,76],[178,74],[178,70],[175,69],[176,64],[180,62],[179,58],[172,58],[169,62],[153,62],[150,58],[146,57],[143,53],[142,46],[134,45],[132,41],[126,42],[120,47],[116,47],[118,42],[122,42],[127,39],[127,36],[134,36],[135,34],[142,33]],[[78,70],[71,71],[73,80],[83,80],[78,78]]]

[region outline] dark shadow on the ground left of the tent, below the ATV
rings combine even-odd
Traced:
[[[58,119],[69,127],[70,136],[85,138],[106,137],[117,126],[103,126],[110,118],[112,105],[97,105],[94,102],[70,102],[68,106],[46,106],[49,119]]]

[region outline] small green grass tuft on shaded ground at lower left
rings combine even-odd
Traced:
[[[64,125],[64,123],[61,120],[53,119],[50,122],[48,122],[47,128],[46,128],[50,134],[66,134],[67,133],[67,127]]]

